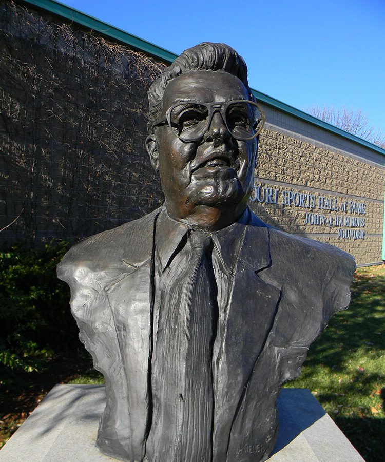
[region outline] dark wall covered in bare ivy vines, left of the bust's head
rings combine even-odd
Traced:
[[[0,243],[77,240],[162,202],[144,148],[163,64],[46,12],[0,5]]]

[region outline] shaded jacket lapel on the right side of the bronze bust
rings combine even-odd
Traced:
[[[245,386],[274,322],[280,291],[257,274],[270,264],[268,228],[259,223],[247,226],[217,359],[214,460],[225,460],[227,448],[216,441],[229,438]]]

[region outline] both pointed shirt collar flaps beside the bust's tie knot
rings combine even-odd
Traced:
[[[250,211],[247,207],[235,223],[211,233],[216,251],[229,273],[232,272],[237,260],[241,244],[243,243],[246,225],[249,221]],[[157,219],[155,232],[155,243],[162,272],[190,229],[190,226],[170,218],[166,207],[163,205]]]

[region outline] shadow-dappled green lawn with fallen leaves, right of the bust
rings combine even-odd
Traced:
[[[359,268],[349,310],[312,344],[296,380],[368,461],[385,461],[385,266]]]

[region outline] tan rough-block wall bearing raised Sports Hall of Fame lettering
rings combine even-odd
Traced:
[[[379,263],[384,173],[373,162],[267,124],[251,208],[288,233],[336,245],[359,265]]]

